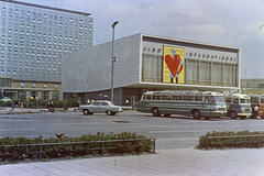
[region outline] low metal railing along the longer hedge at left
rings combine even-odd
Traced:
[[[38,152],[25,152],[23,154],[40,154],[40,160],[42,160],[42,153],[51,152],[51,151],[43,151],[43,146],[52,146],[52,145],[76,145],[76,144],[94,144],[94,143],[101,143],[101,147],[91,147],[91,148],[86,148],[86,151],[101,151],[101,155],[103,156],[103,151],[105,150],[113,150],[118,147],[106,147],[105,143],[117,143],[117,142],[135,142],[135,141],[153,141],[153,153],[155,153],[155,141],[156,139],[131,139],[131,140],[108,140],[108,141],[90,141],[90,142],[66,142],[66,143],[40,143],[40,144],[18,144],[18,145],[0,145],[0,148],[2,147],[26,147],[26,146],[38,146]],[[136,146],[136,145],[134,145]],[[70,152],[77,151],[77,150],[70,150]],[[14,155],[14,153],[9,153],[9,154],[0,154],[0,157],[7,156],[7,155]]]

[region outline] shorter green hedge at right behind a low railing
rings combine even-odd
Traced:
[[[232,138],[240,136],[241,138]],[[263,136],[255,136],[263,135]],[[250,131],[223,131],[223,132],[208,132],[206,135],[199,136],[199,143],[196,146],[197,148],[207,148],[207,138],[208,136],[229,136],[229,138],[217,138],[209,139],[210,148],[226,148],[226,147],[263,147],[264,146],[264,132],[250,132]]]

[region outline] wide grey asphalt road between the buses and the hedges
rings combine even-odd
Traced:
[[[263,131],[264,120],[228,118],[194,120],[191,118],[153,117],[151,113],[122,112],[117,116],[84,116],[80,112],[26,113],[0,116],[0,138],[56,138],[96,134],[97,132],[136,132],[156,140],[156,148],[187,148],[198,144],[200,135],[211,131]]]

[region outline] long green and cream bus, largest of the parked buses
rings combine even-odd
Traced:
[[[184,114],[207,120],[227,114],[223,95],[213,91],[147,91],[136,103],[136,110],[154,117]]]

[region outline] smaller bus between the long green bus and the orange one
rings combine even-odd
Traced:
[[[251,117],[251,98],[248,95],[242,94],[228,94],[224,95],[227,103],[227,117],[231,119],[240,118],[244,120],[246,117]]]

